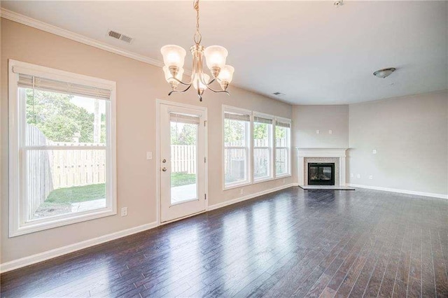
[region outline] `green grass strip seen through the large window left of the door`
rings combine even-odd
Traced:
[[[92,201],[106,198],[106,184],[92,184],[85,186],[64,187],[53,190],[48,194],[45,203],[71,204],[80,201]]]

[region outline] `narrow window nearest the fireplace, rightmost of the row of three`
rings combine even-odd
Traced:
[[[275,175],[290,175],[290,120],[275,122]]]

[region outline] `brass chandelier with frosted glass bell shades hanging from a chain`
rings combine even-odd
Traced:
[[[228,50],[221,47],[221,45],[211,45],[204,48],[201,45],[202,36],[199,31],[199,0],[195,0],[193,3],[193,8],[196,10],[196,33],[193,36],[195,45],[190,48],[191,55],[193,55],[193,71],[191,73],[190,83],[183,83],[183,62],[186,55],[186,50],[181,48],[179,45],[164,45],[160,52],[163,55],[163,72],[165,73],[165,79],[172,87],[172,91],[168,95],[175,92],[181,93],[186,92],[193,85],[197,91],[197,96],[200,101],[202,101],[202,94],[206,89],[213,92],[225,92],[227,87],[232,82],[233,72],[235,69],[230,65],[225,65],[225,59],[228,55]],[[202,60],[205,57],[207,62],[207,67],[211,73],[210,76],[204,73],[202,69]],[[221,85],[221,90],[214,90],[209,87],[214,82]],[[186,86],[183,90],[177,90],[179,85]]]

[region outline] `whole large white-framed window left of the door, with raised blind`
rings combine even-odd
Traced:
[[[116,214],[115,83],[9,64],[10,236]]]

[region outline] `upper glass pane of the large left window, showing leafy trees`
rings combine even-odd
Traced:
[[[26,146],[106,145],[105,100],[20,89],[27,122]]]

